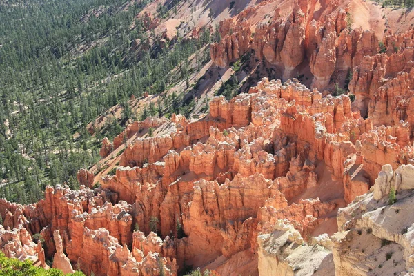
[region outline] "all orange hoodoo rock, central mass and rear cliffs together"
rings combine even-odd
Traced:
[[[320,14],[316,4],[297,1],[286,18],[275,10],[253,37],[246,21],[223,21],[223,39],[210,47],[217,66],[252,48],[286,81],[264,78],[230,101],[214,97],[199,119],[132,122],[112,142],[103,139],[101,157],[125,150],[99,188],[91,188],[93,172],[82,169],[80,190],[47,187],[45,199],[27,206],[0,199],[0,250],[43,267],[54,257],[65,273],[95,275],[178,275],[185,266],[228,275],[239,264],[251,275],[275,275],[293,273],[294,257],[309,252],[348,271],[337,259],[342,247],[333,246],[340,237],[328,237],[337,231],[337,209],[370,189],[379,201],[391,185],[402,193],[412,188],[414,37],[387,32],[386,50],[378,53],[373,32],[346,28],[337,1],[326,1]],[[152,28],[151,14],[143,18]],[[304,62],[312,89],[289,79]],[[348,70],[353,103],[323,91],[335,72]],[[138,135],[148,128],[154,137]],[[346,219],[354,226],[342,215],[339,230]],[[46,250],[32,240],[38,233]],[[280,252],[303,251],[285,259],[271,241],[283,241]],[[321,262],[306,262],[310,275],[324,271]]]

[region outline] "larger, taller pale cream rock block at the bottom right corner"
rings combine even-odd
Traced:
[[[337,275],[406,275],[413,269],[413,169],[403,165],[393,172],[384,165],[371,193],[339,210],[341,232],[332,237]],[[395,198],[389,196],[392,189]],[[355,257],[362,261],[355,263]]]

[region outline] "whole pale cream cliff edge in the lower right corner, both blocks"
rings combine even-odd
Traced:
[[[414,166],[384,165],[369,193],[339,209],[339,232],[304,241],[286,221],[258,236],[260,275],[411,275]]]

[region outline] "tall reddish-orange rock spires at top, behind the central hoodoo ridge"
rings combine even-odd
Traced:
[[[250,42],[249,48],[255,51],[256,57],[266,59],[277,68],[281,72],[279,77],[284,81],[297,75],[308,75],[303,68],[309,66],[310,77],[313,77],[311,87],[321,92],[326,88],[333,90],[333,85],[330,86],[333,81],[342,83],[348,70],[353,71],[355,66],[364,62],[365,57],[373,57],[380,50],[374,32],[347,28],[348,8],[338,10],[338,4],[331,1],[316,12],[314,1],[297,1],[286,18],[277,8],[272,20],[256,25],[253,38],[244,36],[244,39],[247,38],[244,44],[248,46]],[[244,13],[249,12],[246,10]],[[234,25],[232,19],[223,21],[219,30],[224,38],[210,47],[210,55],[217,66],[224,68],[239,56],[233,55],[232,40],[226,35],[232,32],[231,26]],[[407,42],[408,37],[404,45],[411,45]]]

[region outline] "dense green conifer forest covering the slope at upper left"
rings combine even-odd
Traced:
[[[0,1],[0,197],[26,204],[47,185],[76,188],[77,170],[95,164],[101,139],[128,119],[188,113],[180,95],[142,114],[128,108],[132,94],[157,94],[188,79],[188,57],[213,39],[205,31],[198,40],[130,51],[133,40],[155,35],[136,17],[149,2]],[[199,62],[208,59],[207,48]],[[86,125],[117,104],[123,119],[92,137]]]

